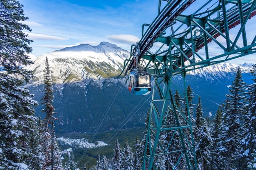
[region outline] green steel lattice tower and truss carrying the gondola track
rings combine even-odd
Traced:
[[[129,74],[137,58],[139,65],[154,76],[149,116],[155,123],[149,121],[148,125],[144,170],[156,169],[155,160],[167,153],[180,155],[174,169],[185,161],[188,170],[197,170],[185,74],[254,54],[256,31],[250,28],[249,19],[256,15],[255,4],[256,0],[159,0],[158,16],[151,25],[142,25],[142,39],[132,45],[124,74]],[[184,81],[185,89],[180,94],[184,94],[183,101],[187,102],[186,115],[181,115],[181,108],[176,107],[176,99],[171,94],[171,89],[177,89],[171,82],[177,74],[181,74]],[[174,124],[167,124],[165,120],[170,108]],[[186,123],[180,124],[181,119]],[[171,150],[173,138],[168,145],[161,143],[160,135],[166,130],[178,132],[180,150]]]

